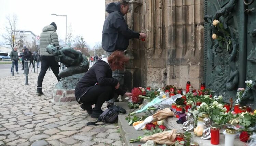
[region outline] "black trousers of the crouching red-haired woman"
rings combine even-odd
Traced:
[[[86,106],[95,104],[94,110],[101,110],[103,103],[112,99],[113,96],[114,87],[95,85],[80,98],[79,102]]]

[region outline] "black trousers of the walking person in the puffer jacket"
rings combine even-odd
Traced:
[[[54,60],[54,56],[41,56],[41,70],[37,78],[37,87],[42,87],[44,76],[48,68],[51,68],[57,80],[59,77],[59,64]]]

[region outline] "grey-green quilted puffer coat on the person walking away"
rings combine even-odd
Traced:
[[[48,25],[43,28],[43,32],[40,34],[40,55],[41,56],[53,56],[46,52],[46,47],[54,43],[55,46],[59,45],[58,35],[55,32],[56,29],[53,25]]]

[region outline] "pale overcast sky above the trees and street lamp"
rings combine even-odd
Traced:
[[[74,37],[82,35],[92,48],[101,42],[105,20],[105,0],[0,0],[0,34],[5,33],[6,16],[16,14],[17,29],[40,35],[44,26],[55,22],[60,39],[65,41],[67,27],[72,24]],[[68,31],[68,28],[67,28]],[[0,44],[3,43],[0,38]]]

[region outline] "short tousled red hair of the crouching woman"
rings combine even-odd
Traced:
[[[113,68],[123,69],[129,58],[122,51],[114,51],[109,57],[108,62]]]

